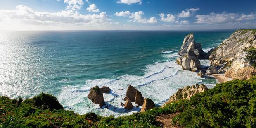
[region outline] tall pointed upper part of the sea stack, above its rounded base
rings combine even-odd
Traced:
[[[192,33],[185,36],[178,55],[184,56],[190,51],[195,54],[196,58],[205,58],[204,56],[206,53],[202,50],[201,44],[195,42],[194,35]]]

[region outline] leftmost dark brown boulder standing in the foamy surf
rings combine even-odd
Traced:
[[[103,93],[98,86],[91,88],[88,98],[95,104],[99,104],[100,108],[105,104]]]

